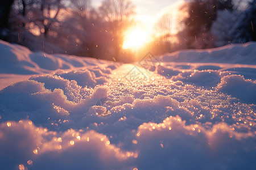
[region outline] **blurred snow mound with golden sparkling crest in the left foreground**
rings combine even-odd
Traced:
[[[36,127],[30,120],[5,122],[0,130],[1,155],[5,155],[0,163],[7,169],[121,169],[138,156],[110,144],[106,135],[93,130],[56,133]],[[17,151],[22,154],[15,154]]]

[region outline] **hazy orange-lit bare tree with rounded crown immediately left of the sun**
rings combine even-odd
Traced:
[[[118,60],[123,45],[123,33],[131,24],[132,16],[135,14],[134,6],[129,0],[104,0],[100,7],[100,14],[108,22],[108,29],[113,34],[115,59]]]

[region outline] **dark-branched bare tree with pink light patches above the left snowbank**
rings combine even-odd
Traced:
[[[56,41],[59,40],[56,37],[61,28],[59,14],[64,8],[63,1],[14,0],[9,19],[10,36],[7,40],[25,45],[31,50],[61,52],[60,48],[56,48]]]

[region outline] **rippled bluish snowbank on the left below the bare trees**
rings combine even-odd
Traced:
[[[80,58],[64,54],[31,52],[27,48],[0,40],[0,73],[43,74],[58,69],[93,66],[98,63],[94,58]],[[104,61],[101,61],[104,62]],[[115,68],[115,65],[109,69]]]

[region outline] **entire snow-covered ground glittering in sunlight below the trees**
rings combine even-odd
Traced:
[[[1,169],[256,167],[255,42],[134,64],[0,52]]]

